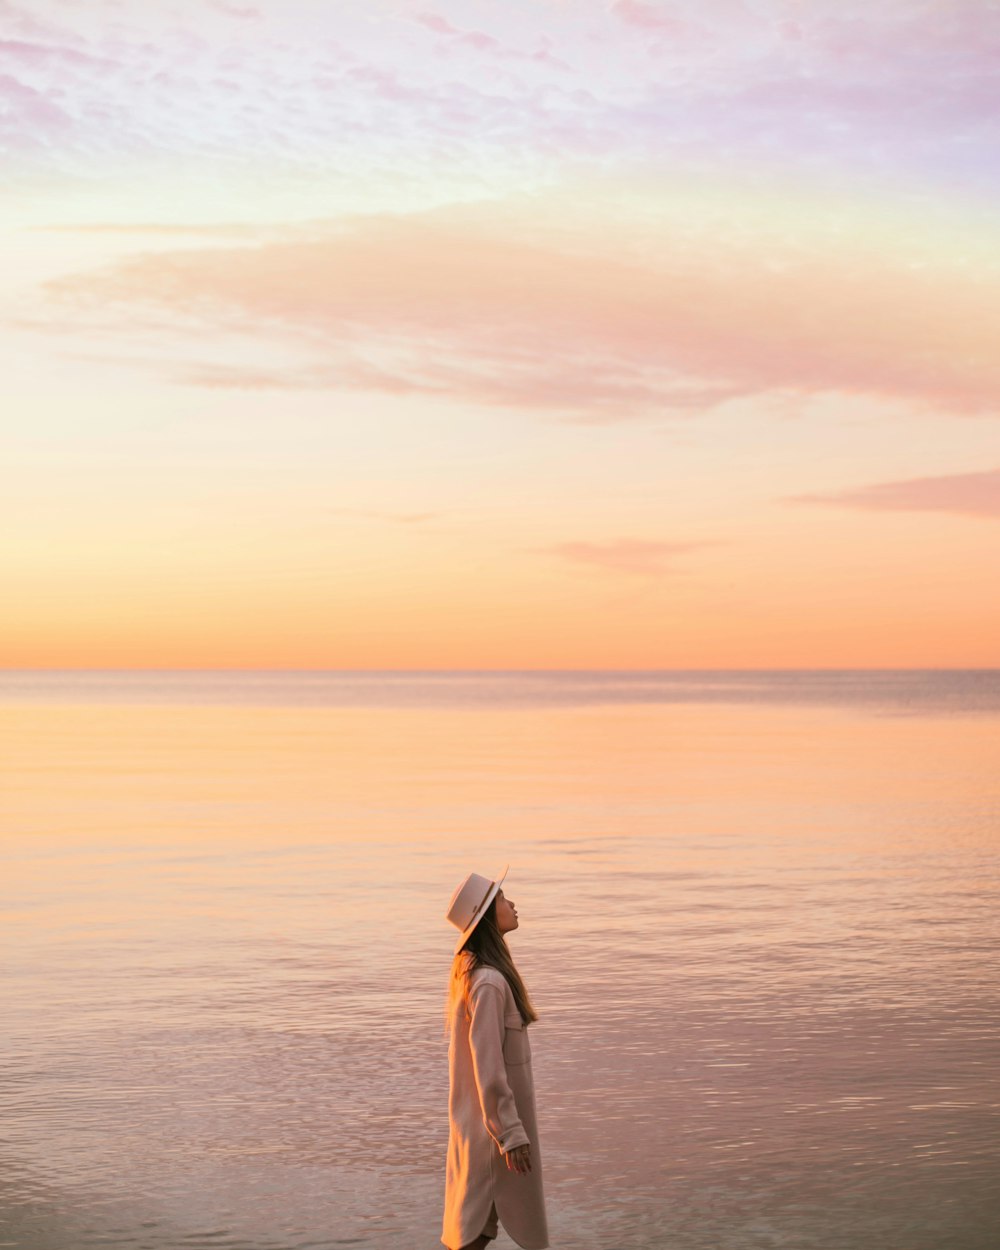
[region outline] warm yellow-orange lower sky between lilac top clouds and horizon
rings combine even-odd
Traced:
[[[0,665],[1000,664],[992,228],[592,186],[31,236]]]

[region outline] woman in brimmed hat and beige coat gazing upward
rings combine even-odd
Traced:
[[[482,1250],[499,1224],[525,1250],[549,1245],[526,1029],[538,1012],[504,938],[518,928],[504,876],[471,872],[448,909],[459,930],[448,996],[451,1130],[441,1241],[449,1250]]]

